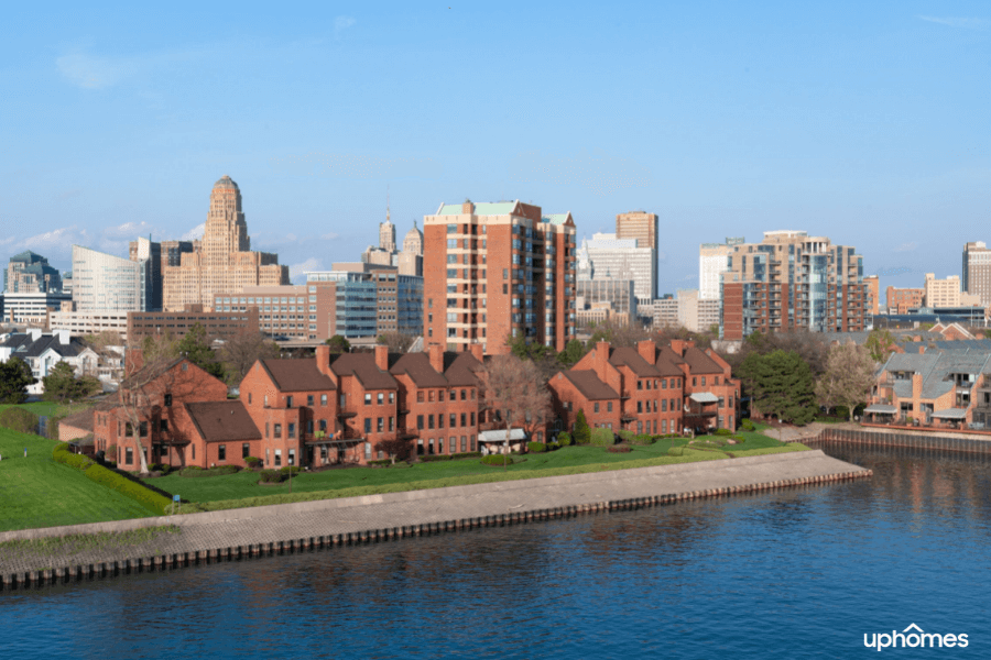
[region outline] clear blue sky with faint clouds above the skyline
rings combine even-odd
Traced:
[[[203,231],[214,182],[298,279],[442,202],[808,231],[922,286],[991,244],[983,2],[20,3],[0,23],[0,262]]]

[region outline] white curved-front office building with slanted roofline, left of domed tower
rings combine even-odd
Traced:
[[[154,311],[152,260],[131,261],[73,245],[73,302],[76,311]]]

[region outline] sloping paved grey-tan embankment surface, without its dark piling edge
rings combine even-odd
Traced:
[[[69,527],[26,529],[0,534],[0,542],[66,535],[126,531],[175,525],[176,534],[163,534],[138,543],[105,546],[56,556],[8,547],[0,551],[0,578],[26,571],[86,566],[99,562],[138,560],[172,553],[195,553],[252,544],[298,541],[351,532],[448,524],[509,514],[535,519],[556,507],[573,510],[616,508],[617,502],[686,495],[712,491],[744,492],[797,483],[867,476],[869,471],[824,454],[819,450],[739,459],[658,465],[590,474],[520,480],[493,484],[453,486],[340,499],[301,502],[253,508],[167,517],[96,522]],[[783,483],[786,482],[786,483]],[[705,493],[710,491],[709,493]],[[703,493],[699,493],[703,492]],[[669,499],[668,499],[669,501]],[[612,503],[610,505],[609,503]],[[527,513],[537,515],[527,518]],[[522,515],[522,516],[521,516]],[[442,527],[443,528],[443,527]]]

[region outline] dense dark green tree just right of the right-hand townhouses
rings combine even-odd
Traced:
[[[740,376],[749,385],[752,407],[761,413],[798,426],[815,419],[812,371],[797,353],[751,353],[740,367]]]

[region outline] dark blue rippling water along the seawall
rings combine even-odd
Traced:
[[[991,463],[0,594],[0,658],[988,657]]]

